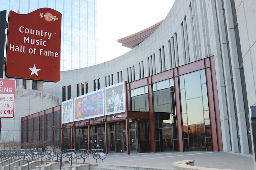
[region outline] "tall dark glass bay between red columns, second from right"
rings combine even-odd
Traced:
[[[153,84],[153,90],[156,151],[178,151],[173,141],[177,139],[173,79]]]

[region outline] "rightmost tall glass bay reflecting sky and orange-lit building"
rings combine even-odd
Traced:
[[[179,79],[184,151],[210,151],[211,128],[205,72],[196,71]]]

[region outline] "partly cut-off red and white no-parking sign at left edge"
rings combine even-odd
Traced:
[[[0,118],[14,117],[15,80],[0,78]]]

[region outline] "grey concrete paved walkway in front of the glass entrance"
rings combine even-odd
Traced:
[[[181,160],[195,160],[195,166],[253,170],[253,156],[250,154],[242,156],[232,152],[157,152],[157,153],[110,153],[104,164],[138,166],[149,168],[173,169],[172,163]],[[90,163],[96,160],[90,156]],[[102,163],[98,159],[98,163]]]

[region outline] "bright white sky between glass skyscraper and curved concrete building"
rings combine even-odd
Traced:
[[[98,61],[103,63],[130,51],[118,39],[163,20],[174,0],[97,0]]]

